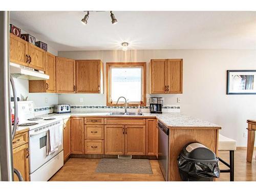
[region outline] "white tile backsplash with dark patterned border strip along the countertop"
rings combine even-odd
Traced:
[[[137,112],[138,106],[127,106],[131,112]],[[124,106],[106,106],[106,105],[71,105],[71,112],[113,112],[124,110]],[[141,111],[150,112],[150,106],[141,106]],[[165,113],[180,113],[179,105],[166,105],[162,107]],[[44,106],[41,108],[34,108],[35,116],[53,113],[52,106]]]

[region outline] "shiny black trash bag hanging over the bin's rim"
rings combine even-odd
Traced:
[[[188,159],[182,154],[177,158],[182,181],[213,181],[220,177],[219,159]]]

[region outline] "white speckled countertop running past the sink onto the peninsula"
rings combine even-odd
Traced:
[[[122,117],[122,118],[154,118],[156,117],[163,124],[168,126],[170,129],[175,127],[212,127],[214,129],[221,129],[220,125],[210,123],[198,118],[190,117],[180,113],[163,113],[163,114],[152,114],[143,113],[144,115],[108,115],[109,112],[72,112],[66,114],[48,114],[41,115],[38,117],[58,117],[62,119],[69,118],[71,116],[99,116],[99,117]]]

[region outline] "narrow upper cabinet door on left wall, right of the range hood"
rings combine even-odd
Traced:
[[[47,93],[55,93],[56,87],[55,87],[55,55],[52,55],[51,53],[46,53],[46,68],[45,72],[47,75],[49,75],[49,79],[46,80],[46,92]]]

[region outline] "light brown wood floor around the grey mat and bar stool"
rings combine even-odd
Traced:
[[[256,150],[252,163],[246,162],[246,150],[234,152],[234,180],[256,181]],[[229,152],[219,151],[219,156],[227,160]],[[104,174],[96,173],[100,159],[70,158],[50,181],[164,181],[157,160],[150,160],[153,174]],[[221,168],[225,165],[220,163]],[[217,181],[229,181],[228,173],[221,173]]]

